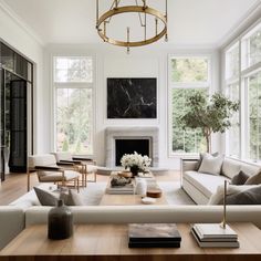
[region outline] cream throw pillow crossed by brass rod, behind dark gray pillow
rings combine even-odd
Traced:
[[[244,190],[248,190],[250,188],[253,188],[257,186],[253,185],[229,185],[227,188],[227,196],[234,195],[238,192],[242,192]],[[223,185],[218,186],[217,191],[212,194],[210,197],[208,205],[221,205],[223,203]]]

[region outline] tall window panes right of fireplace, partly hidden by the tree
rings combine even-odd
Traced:
[[[171,95],[171,152],[174,154],[198,153],[206,149],[201,129],[184,130],[179,117],[186,111],[187,98],[200,92],[208,94],[210,87],[208,58],[169,59],[169,84]]]

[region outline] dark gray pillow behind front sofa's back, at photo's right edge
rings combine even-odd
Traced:
[[[227,205],[261,205],[261,186],[227,196]]]

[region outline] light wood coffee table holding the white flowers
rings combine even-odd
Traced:
[[[111,178],[112,176],[113,175],[111,175]],[[111,178],[107,182],[106,188],[111,186]],[[122,194],[113,195],[113,194],[107,194],[105,190],[102,200],[100,202],[100,206],[133,206],[133,205],[144,205],[140,195],[122,195]],[[156,198],[156,202],[153,205],[168,205],[166,198],[164,197],[164,194],[161,195],[160,198]]]

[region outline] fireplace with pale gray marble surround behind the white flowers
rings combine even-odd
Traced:
[[[107,127],[106,167],[121,166],[124,154],[137,152],[152,158],[152,166],[158,167],[157,127]]]

